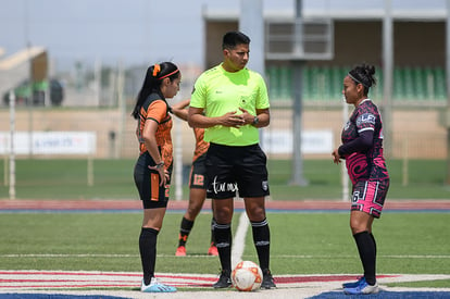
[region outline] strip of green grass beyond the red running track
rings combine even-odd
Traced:
[[[0,166],[5,170],[5,160]],[[135,199],[133,182],[135,160],[93,160],[92,180],[88,185],[88,162],[78,159],[20,159],[16,161],[16,198],[22,199]],[[388,160],[391,178],[390,199],[449,199],[450,188],[445,184],[446,161],[411,160],[408,167],[401,160]],[[329,160],[305,160],[304,178],[308,186],[290,184],[290,160],[267,161],[271,199],[341,200],[341,169]],[[7,171],[0,179],[8,186]],[[186,180],[185,180],[186,183]],[[171,199],[175,198],[175,180]],[[183,199],[187,199],[187,183],[183,186]],[[0,198],[9,198],[9,188],[0,188]]]

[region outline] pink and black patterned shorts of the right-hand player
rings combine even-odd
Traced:
[[[389,179],[358,182],[353,185],[351,210],[379,219],[388,189]]]

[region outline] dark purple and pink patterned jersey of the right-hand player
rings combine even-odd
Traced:
[[[346,157],[347,171],[353,185],[360,180],[388,179],[389,174],[383,157],[383,124],[377,107],[366,99],[354,109],[342,130],[342,144],[359,138],[364,130],[373,130],[373,144],[365,151]]]

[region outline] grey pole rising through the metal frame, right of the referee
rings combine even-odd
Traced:
[[[302,26],[302,1],[296,0],[296,22],[295,22],[295,53],[298,57],[303,54],[303,26]],[[302,89],[303,89],[303,64],[304,61],[293,59],[291,65],[293,68],[292,76],[292,177],[291,185],[307,186],[308,180],[303,177],[303,158],[301,153],[301,114],[302,114]]]

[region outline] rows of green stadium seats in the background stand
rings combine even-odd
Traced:
[[[307,103],[333,103],[341,98],[342,77],[349,66],[305,66],[303,99]],[[289,66],[266,70],[271,100],[290,100],[291,72]],[[377,86],[372,96],[383,95],[383,70],[377,67]],[[445,103],[446,80],[442,67],[405,66],[393,70],[392,98],[395,103]]]

